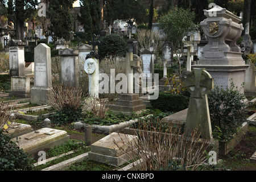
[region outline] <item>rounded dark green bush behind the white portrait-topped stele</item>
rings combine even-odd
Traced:
[[[127,43],[120,35],[110,34],[102,38],[98,46],[98,54],[101,59],[104,57],[125,57],[127,52]]]

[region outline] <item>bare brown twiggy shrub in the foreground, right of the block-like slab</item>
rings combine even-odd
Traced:
[[[135,143],[122,143],[120,147],[113,142],[132,160],[132,166],[139,171],[159,170],[199,170],[204,169],[207,160],[205,151],[210,144],[208,139],[199,138],[199,130],[188,137],[181,132],[180,127],[174,125],[163,126],[159,122],[138,122],[138,132],[132,128],[130,134]],[[163,130],[164,129],[164,130]],[[127,136],[127,135],[126,135]],[[130,148],[131,154],[125,150]],[[137,156],[137,159],[134,159]]]

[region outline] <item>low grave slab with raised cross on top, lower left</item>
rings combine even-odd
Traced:
[[[21,135],[18,138],[18,146],[28,154],[35,154],[45,148],[63,144],[69,138],[67,131],[43,128]],[[15,142],[16,138],[12,140]]]

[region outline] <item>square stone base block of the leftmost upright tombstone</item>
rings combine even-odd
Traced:
[[[30,98],[30,77],[12,76],[10,97]]]

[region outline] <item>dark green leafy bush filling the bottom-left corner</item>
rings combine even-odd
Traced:
[[[0,129],[0,171],[32,169],[32,160]]]

